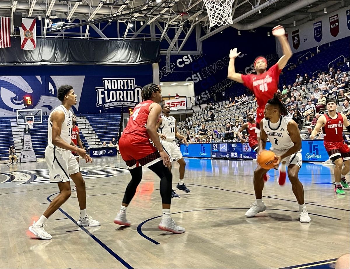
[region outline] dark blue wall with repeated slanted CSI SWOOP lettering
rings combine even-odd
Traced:
[[[275,38],[267,36],[270,28],[259,28],[254,33],[241,31],[238,36],[236,29],[229,27],[222,34],[217,33],[202,42],[202,55],[172,55],[170,71],[166,68],[166,56],[161,56],[159,63],[160,81],[193,81],[195,101],[207,103],[213,95],[224,92],[225,98],[245,93],[245,87],[227,78],[230,49],[235,47],[241,55],[235,62],[236,71],[241,74],[251,74],[254,71],[255,57],[264,55],[271,63],[276,62]],[[259,50],[252,44],[259,41]]]

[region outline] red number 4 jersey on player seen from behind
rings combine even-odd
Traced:
[[[152,100],[146,100],[135,106],[122,136],[136,136],[140,138],[140,141],[148,142],[149,135],[146,130],[146,123],[149,114],[149,105],[152,103],[154,103]]]

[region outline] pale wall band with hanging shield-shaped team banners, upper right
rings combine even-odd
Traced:
[[[287,31],[293,53],[347,37],[350,35],[350,9],[346,7],[327,13],[314,21],[287,28]],[[280,48],[278,54],[281,54]]]

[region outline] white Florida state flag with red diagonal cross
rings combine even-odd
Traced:
[[[36,47],[36,20],[22,19],[20,27],[21,49],[33,50]]]

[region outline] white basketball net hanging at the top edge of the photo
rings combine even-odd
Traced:
[[[232,21],[232,4],[235,0],[204,0],[210,27],[230,25]]]

